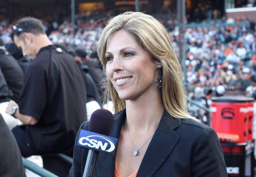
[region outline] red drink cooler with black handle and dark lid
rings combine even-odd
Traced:
[[[253,98],[220,96],[211,100],[211,127],[216,132],[239,135],[238,143],[252,140]]]

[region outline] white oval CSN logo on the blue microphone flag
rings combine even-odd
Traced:
[[[103,136],[99,136],[99,135],[90,135],[87,137],[81,137],[79,139],[79,144],[83,146],[96,148],[99,150],[101,149],[102,151],[106,151],[106,152],[112,152],[115,150],[115,143],[111,139]],[[110,147],[106,149],[109,144],[110,144]]]

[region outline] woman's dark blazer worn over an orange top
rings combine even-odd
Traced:
[[[119,138],[126,117],[125,109],[114,117],[109,136]],[[81,128],[88,130],[88,125],[85,122]],[[80,130],[77,135],[79,133]],[[74,146],[70,177],[83,175],[87,153],[88,149]],[[114,177],[115,158],[99,153],[94,177]],[[137,177],[151,176],[227,177],[223,152],[215,131],[192,119],[172,118],[164,112],[137,174]]]

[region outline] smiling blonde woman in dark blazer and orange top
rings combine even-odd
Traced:
[[[94,176],[227,176],[216,133],[187,113],[182,69],[162,24],[120,14],[103,30],[98,54],[105,100],[117,112],[110,136],[119,140],[116,156],[99,155]],[[82,175],[87,153],[75,146],[70,176]]]

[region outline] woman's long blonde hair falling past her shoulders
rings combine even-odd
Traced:
[[[139,45],[150,54],[153,61],[162,64],[163,82],[161,97],[163,106],[170,116],[176,118],[196,118],[186,109],[186,91],[182,85],[182,68],[174,52],[167,29],[154,17],[141,12],[125,12],[111,18],[102,31],[98,43],[98,56],[106,70],[105,51],[108,38],[118,30],[132,34]],[[104,79],[104,103],[113,101],[115,112],[125,108],[110,79]]]

